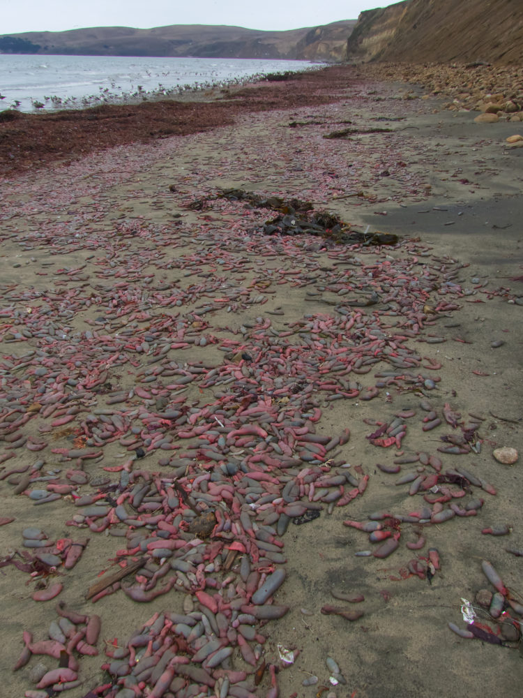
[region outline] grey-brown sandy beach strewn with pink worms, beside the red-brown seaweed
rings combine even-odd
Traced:
[[[2,696],[521,682],[523,122],[329,70],[0,180]]]

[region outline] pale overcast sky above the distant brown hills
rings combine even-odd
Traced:
[[[393,0],[0,0],[0,34],[83,27],[234,24],[298,29],[356,20],[362,10]]]

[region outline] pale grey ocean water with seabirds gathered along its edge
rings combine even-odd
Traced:
[[[320,65],[259,59],[0,54],[0,110],[77,109],[157,95],[173,97],[188,89]]]

